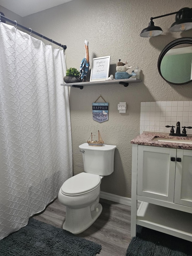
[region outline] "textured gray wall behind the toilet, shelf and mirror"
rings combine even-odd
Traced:
[[[114,172],[104,177],[101,190],[131,197],[131,143],[140,131],[140,102],[192,100],[192,84],[173,86],[159,75],[157,62],[161,50],[176,38],[192,36],[192,30],[171,33],[175,15],[154,20],[164,33],[141,38],[150,17],[191,8],[191,0],[73,0],[23,18],[25,26],[66,44],[67,68],[79,69],[85,56],[84,40],[89,41],[92,58],[111,56],[110,74],[115,74],[119,59],[142,70],[141,83],[128,87],[118,84],[70,89],[70,114],[73,140],[73,174],[83,171],[78,146],[91,131],[101,131],[106,144],[116,145]],[[58,85],[60,86],[60,85]],[[92,119],[92,102],[99,95],[109,102],[109,120],[99,124]],[[127,112],[119,114],[117,104],[127,103]]]

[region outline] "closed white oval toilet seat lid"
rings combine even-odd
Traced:
[[[79,173],[67,179],[61,186],[61,193],[66,196],[77,196],[91,192],[101,184],[97,174]]]

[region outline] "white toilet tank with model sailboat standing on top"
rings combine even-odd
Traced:
[[[113,173],[114,170],[114,152],[116,146],[103,145],[89,146],[88,143],[83,143],[79,146],[83,157],[84,171],[86,173],[107,176]]]

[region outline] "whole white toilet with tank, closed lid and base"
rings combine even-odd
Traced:
[[[58,193],[58,200],[66,206],[63,229],[79,234],[91,226],[102,212],[99,203],[100,184],[104,176],[113,173],[116,146],[79,146],[84,172],[67,179]]]

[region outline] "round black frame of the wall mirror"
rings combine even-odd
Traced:
[[[161,74],[161,61],[164,57],[164,55],[174,46],[179,45],[179,44],[191,44],[192,45],[192,38],[191,37],[183,37],[183,38],[179,38],[176,40],[173,40],[172,42],[170,42],[169,44],[166,45],[166,47],[162,50],[162,52],[159,55],[158,58],[158,71],[159,74],[161,75],[161,77],[167,82],[167,83],[171,83],[170,81],[166,80],[162,74]],[[171,84],[175,84],[175,85],[182,85],[182,84],[186,84],[186,83],[190,83],[192,80],[184,82],[184,83],[171,83]]]

